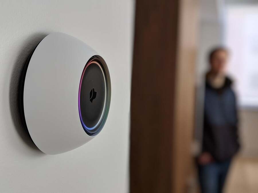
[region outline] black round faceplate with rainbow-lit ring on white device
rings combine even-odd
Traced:
[[[83,129],[90,136],[97,135],[107,119],[110,105],[110,77],[100,57],[92,57],[83,69],[78,105]]]

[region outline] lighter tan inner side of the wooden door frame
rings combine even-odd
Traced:
[[[173,192],[190,192],[194,162],[191,153],[194,129],[198,0],[181,0],[173,133]]]

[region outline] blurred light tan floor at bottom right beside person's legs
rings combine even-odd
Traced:
[[[230,169],[225,193],[258,192],[258,158],[236,158]]]

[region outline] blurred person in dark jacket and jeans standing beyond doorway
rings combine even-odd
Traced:
[[[197,158],[202,193],[221,193],[239,150],[236,96],[226,75],[228,50],[213,49],[206,74],[202,153]]]

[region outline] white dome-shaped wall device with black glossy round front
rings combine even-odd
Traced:
[[[34,144],[46,154],[73,150],[103,128],[111,99],[107,64],[64,33],[46,36],[21,76],[20,109]]]

